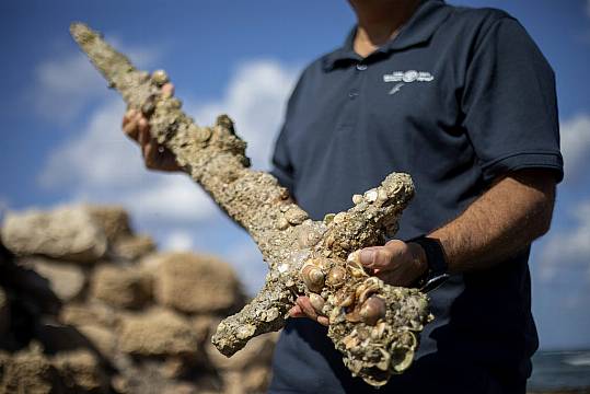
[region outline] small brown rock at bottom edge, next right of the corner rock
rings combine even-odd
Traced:
[[[74,393],[108,393],[106,375],[99,360],[88,350],[60,352],[54,357],[57,369],[67,389]]]

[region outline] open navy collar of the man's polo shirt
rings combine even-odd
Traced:
[[[409,21],[402,26],[397,36],[390,39],[375,51],[386,54],[428,42],[440,24],[449,16],[450,12],[443,0],[423,0]],[[356,34],[357,26],[352,27],[343,47],[324,58],[324,69],[326,71],[333,70],[339,61],[362,60],[352,48]]]

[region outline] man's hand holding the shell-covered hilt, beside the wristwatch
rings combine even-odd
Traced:
[[[384,246],[371,246],[360,251],[360,263],[387,285],[410,286],[426,273],[426,254],[416,243],[392,240]],[[319,314],[308,297],[298,297],[289,311],[291,317],[309,317],[327,325],[328,318]]]

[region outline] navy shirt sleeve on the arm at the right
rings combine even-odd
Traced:
[[[463,127],[484,179],[540,167],[562,181],[555,76],[518,21],[496,20],[483,33],[464,83]]]

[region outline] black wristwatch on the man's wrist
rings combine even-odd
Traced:
[[[416,281],[415,287],[423,292],[432,291],[450,277],[444,250],[439,240],[426,235],[416,236],[406,241],[406,243],[410,242],[417,243],[423,247],[426,254],[426,264],[428,266],[426,273]]]

